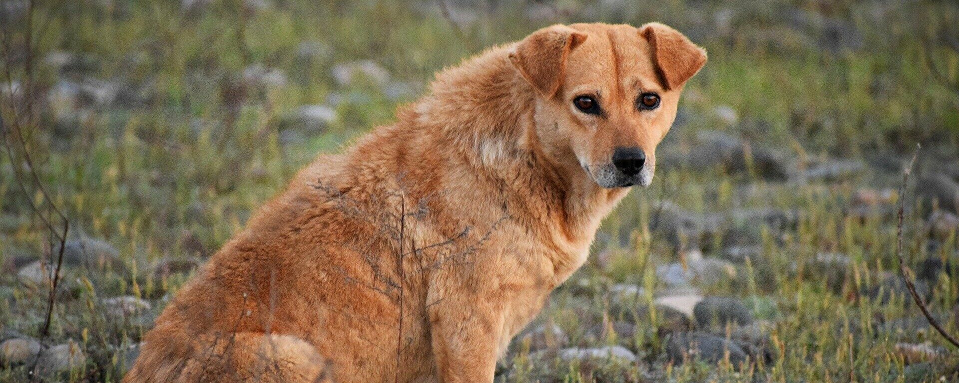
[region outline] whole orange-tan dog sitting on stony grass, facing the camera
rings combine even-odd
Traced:
[[[444,70],[255,214],[124,381],[492,382],[600,220],[652,182],[706,60],[663,24],[573,24]]]

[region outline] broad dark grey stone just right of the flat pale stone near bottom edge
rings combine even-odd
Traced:
[[[667,357],[675,363],[693,359],[716,363],[723,360],[727,352],[734,366],[746,362],[748,357],[735,342],[704,332],[672,334],[666,346]]]

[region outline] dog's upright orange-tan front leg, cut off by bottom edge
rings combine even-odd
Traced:
[[[456,278],[434,282],[430,288],[427,302],[432,304],[427,312],[442,383],[493,381],[503,333],[503,304],[484,291],[482,284]]]

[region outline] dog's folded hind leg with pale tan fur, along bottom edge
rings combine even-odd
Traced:
[[[185,358],[150,353],[145,345],[125,383],[326,382],[323,358],[309,343],[282,334],[202,336]]]

